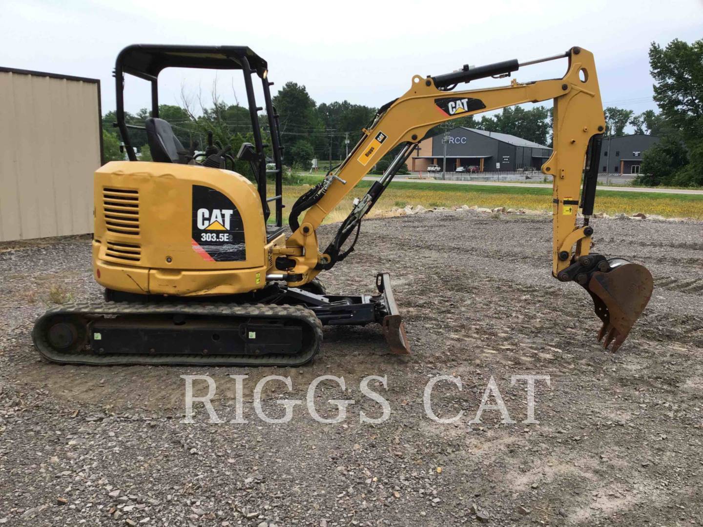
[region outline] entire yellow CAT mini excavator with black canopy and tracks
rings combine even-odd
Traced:
[[[560,79],[456,89],[559,59],[568,62]],[[168,67],[240,70],[253,143],[241,145],[236,155],[231,145],[210,137],[204,152],[184,148],[159,118],[158,77]],[[151,117],[144,126],[125,119],[127,74],[150,83]],[[261,82],[262,106],[255,80]],[[379,108],[346,159],[295,201],[290,233],[283,226],[284,147],[266,60],[245,46],[135,44],[117,57],[115,85],[116,126],[128,160],[108,162],[94,177],[93,273],[105,299],[57,306],[37,319],[34,346],[51,362],[298,366],[320,349],[323,325],[370,323],[381,326],[393,353],[409,353],[387,273],[376,277],[378,294],[357,296],[328,294],[319,273],[349,256],[363,217],[435,126],[545,100],[554,105],[553,153],[542,166],[554,181],[553,277],[574,281],[591,295],[602,321],[598,339],[605,348],[612,344],[612,351],[652,294],[647,268],[590,251],[605,120],[593,54],[583,48],[413,76],[406,93]],[[146,133],[153,162],[138,160],[131,129]],[[325,216],[392,151],[397,153],[387,170],[354,200],[352,212],[320,249],[318,227]],[[248,163],[251,179],[233,170],[237,160]],[[267,195],[269,181],[273,195]]]

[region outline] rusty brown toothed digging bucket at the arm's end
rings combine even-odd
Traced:
[[[615,352],[627,338],[652,297],[654,280],[647,268],[621,258],[608,260],[610,271],[596,271],[584,287],[593,298],[595,314],[603,321],[598,341],[612,342]]]

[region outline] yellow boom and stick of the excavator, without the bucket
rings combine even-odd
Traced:
[[[492,74],[504,75],[517,69],[517,61],[434,78],[415,75],[411,88],[380,112],[370,128],[363,131],[361,141],[344,160],[335,178],[325,180],[323,195],[307,209],[299,226],[288,238],[286,254],[295,261],[295,267],[288,272],[299,278],[292,285],[308,282],[321,266],[330,263],[333,255],[318,250],[316,229],[373,165],[396,145],[406,143],[414,147],[427,131],[442,122],[549,99],[554,100],[554,150],[542,171],[554,176],[553,275],[557,276],[569,266],[574,245],[576,257],[586,256],[593,230],[587,225],[576,228],[581,174],[588,144],[593,136],[602,134],[605,120],[593,54],[572,48],[562,56],[569,58],[569,67],[562,79],[527,83],[513,80],[509,86],[492,89],[448,91],[439,89],[436,84],[446,87],[448,83],[468,82]],[[485,71],[477,73],[475,70],[480,68]]]

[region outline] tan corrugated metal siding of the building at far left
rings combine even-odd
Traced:
[[[90,233],[99,84],[0,71],[0,240]]]

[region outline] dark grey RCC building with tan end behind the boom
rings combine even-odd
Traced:
[[[427,138],[408,159],[408,170],[425,171],[430,164],[441,167],[444,134]],[[475,167],[477,172],[539,169],[552,155],[552,149],[527,139],[460,126],[449,131],[446,143],[446,169]]]

